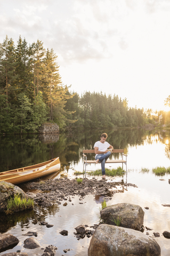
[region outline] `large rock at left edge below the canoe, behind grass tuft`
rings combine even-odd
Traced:
[[[7,206],[7,200],[13,198],[14,195],[19,195],[21,198],[28,198],[26,193],[12,183],[0,182],[0,212],[4,212]]]

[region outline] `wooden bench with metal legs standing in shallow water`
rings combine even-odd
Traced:
[[[83,150],[83,172],[85,171],[86,175],[86,166],[87,164],[95,164],[94,160],[87,160],[87,155],[85,154],[91,154],[94,153],[94,149],[84,149]],[[112,164],[112,163],[122,163],[122,169],[123,164],[126,165],[126,173],[127,173],[127,155],[124,154],[124,149],[113,149],[112,153],[122,153],[122,159],[109,159],[106,161],[106,164]],[[125,159],[123,158],[125,156]],[[84,169],[85,166],[85,169]]]

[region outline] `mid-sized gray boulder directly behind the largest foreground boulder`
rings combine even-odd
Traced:
[[[100,211],[100,217],[109,225],[116,225],[114,220],[121,218],[120,227],[140,230],[143,225],[144,211],[139,205],[122,203],[107,206]]]

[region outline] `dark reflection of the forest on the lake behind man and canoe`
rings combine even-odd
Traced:
[[[82,162],[82,150],[92,149],[95,141],[100,139],[103,131],[75,131],[59,135],[4,135],[0,137],[0,172],[19,167],[45,162],[60,157],[61,170]],[[170,158],[169,131],[147,131],[142,129],[108,130],[108,142],[115,149],[124,148],[128,154],[129,147],[152,145],[155,142],[166,143],[165,154]],[[115,154],[119,158],[119,154]],[[93,159],[93,156],[91,156]]]

